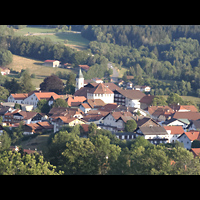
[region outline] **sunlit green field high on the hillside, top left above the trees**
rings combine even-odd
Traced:
[[[50,38],[53,42],[59,42],[66,46],[70,46],[76,50],[86,49],[89,40],[83,38],[80,33],[75,31],[66,31],[66,32],[55,32],[54,28],[39,28],[39,27],[26,27],[20,30],[15,30],[16,35],[21,36],[30,36],[34,37],[34,35],[41,38]],[[67,40],[67,44],[65,41]]]

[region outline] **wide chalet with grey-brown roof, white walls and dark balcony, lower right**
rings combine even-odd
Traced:
[[[136,136],[143,136],[145,139],[155,145],[169,142],[169,134],[161,126],[140,127]]]

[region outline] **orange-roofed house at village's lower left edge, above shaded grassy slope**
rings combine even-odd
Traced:
[[[32,135],[34,133],[41,133],[44,131],[53,131],[53,125],[49,122],[37,122],[24,125],[24,135]]]

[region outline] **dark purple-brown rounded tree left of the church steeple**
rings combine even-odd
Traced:
[[[63,82],[53,74],[44,79],[44,81],[40,84],[40,89],[46,92],[61,94],[63,91]]]

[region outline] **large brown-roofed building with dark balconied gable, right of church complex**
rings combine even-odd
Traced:
[[[140,108],[139,101],[144,96],[145,94],[138,90],[114,90],[114,102],[127,107]]]

